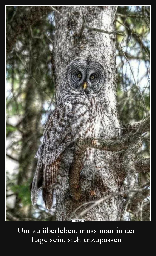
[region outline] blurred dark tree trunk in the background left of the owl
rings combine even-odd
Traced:
[[[36,169],[36,161],[34,161],[34,156],[40,143],[39,128],[42,114],[42,104],[38,103],[39,97],[36,92],[35,84],[32,78],[30,78],[27,82],[25,93],[25,115],[21,122],[23,131],[22,149],[21,155],[19,157],[19,174],[17,181],[17,185],[19,186],[26,184],[26,182],[29,184],[32,180],[32,170]],[[37,105],[37,107],[35,105]],[[14,208],[16,214],[20,215],[20,212],[22,211],[25,216],[28,216],[28,214],[30,214],[30,209],[32,209],[32,205],[23,205],[23,207],[21,208],[20,202],[21,199],[18,197],[17,194]]]

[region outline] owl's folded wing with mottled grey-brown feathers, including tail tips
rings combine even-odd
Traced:
[[[42,187],[45,205],[51,208],[62,153],[81,136],[84,124],[89,121],[87,112],[86,105],[68,102],[58,104],[51,113],[45,126],[43,143],[36,154],[38,163],[31,189],[33,205]]]

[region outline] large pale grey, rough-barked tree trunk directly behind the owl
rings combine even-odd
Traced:
[[[67,64],[76,57],[94,57],[103,65],[106,74],[105,118],[101,137],[104,139],[120,137],[120,124],[116,107],[114,26],[116,6],[55,6],[55,8],[62,14],[55,14],[56,31],[53,55],[56,99],[61,89],[61,79]],[[95,28],[113,33],[103,33],[96,31]],[[74,200],[71,196],[68,174],[64,173],[61,189],[57,195],[57,220],[78,218],[81,216],[82,210],[86,208],[84,203],[98,200],[121,190],[125,173],[117,168],[120,166],[119,163],[120,154],[95,150],[94,165],[87,161],[80,176],[82,189],[80,200]],[[76,208],[81,205],[82,207],[73,214]],[[121,196],[116,196],[104,201],[100,207],[90,209],[82,218],[116,221],[122,218],[122,212],[123,199]]]

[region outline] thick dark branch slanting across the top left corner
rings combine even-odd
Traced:
[[[15,17],[11,23],[6,24],[6,57],[12,50],[18,35],[29,26],[40,20],[43,15],[48,14],[51,7],[46,5],[32,6],[21,16]]]

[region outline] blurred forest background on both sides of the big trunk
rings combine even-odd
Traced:
[[[6,6],[6,35],[13,22],[27,16],[31,7]],[[115,24],[124,35],[116,35],[116,76],[119,119],[126,124],[150,113],[150,6],[118,6]],[[37,164],[34,156],[45,122],[55,107],[51,54],[54,37],[55,15],[51,10],[21,31],[6,55],[7,220],[55,219],[55,208],[46,210],[42,199],[32,206],[30,193]],[[149,132],[144,135],[139,155],[150,156]],[[150,173],[138,174],[138,181],[148,184]],[[130,213],[129,219],[138,220]]]

